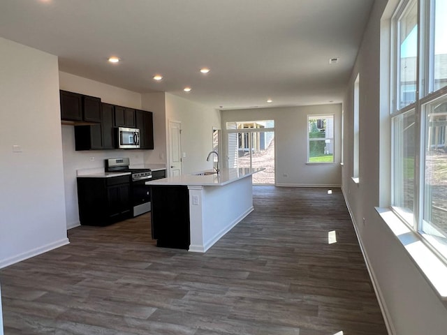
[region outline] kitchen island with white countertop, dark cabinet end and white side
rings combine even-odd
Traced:
[[[157,246],[205,253],[253,211],[251,176],[263,168],[222,169],[147,181]]]

